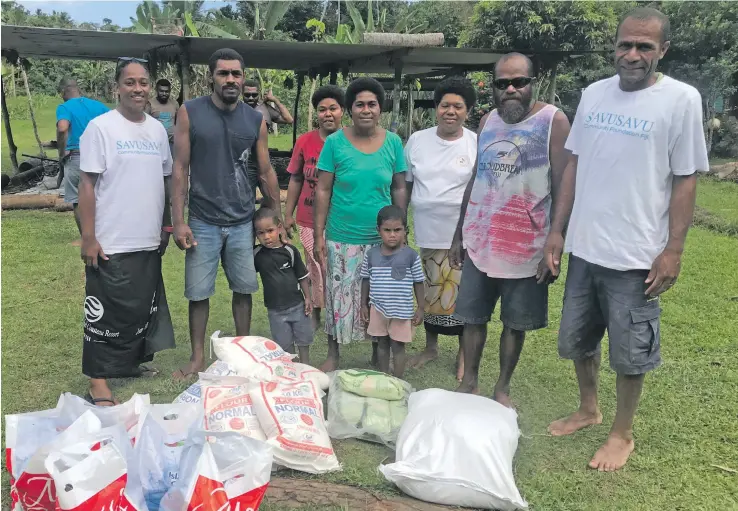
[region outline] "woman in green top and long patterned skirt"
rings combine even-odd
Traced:
[[[407,205],[402,141],[379,126],[383,103],[384,88],[378,81],[351,82],[346,106],[353,126],[330,135],[318,160],[314,251],[327,267],[328,359],[323,371],[338,366],[339,344],[366,338],[360,270],[366,251],[380,242],[377,212],[390,204],[402,209]]]

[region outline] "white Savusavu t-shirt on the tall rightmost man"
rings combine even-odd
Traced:
[[[669,238],[673,176],[709,169],[702,101],[667,76],[636,92],[619,80],[587,87],[566,141],[579,164],[565,250],[613,270],[646,270]]]

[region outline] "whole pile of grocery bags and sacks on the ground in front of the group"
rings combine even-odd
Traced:
[[[331,438],[396,448],[379,470],[416,498],[527,507],[513,410],[377,371],[326,375],[269,339],[218,334],[218,360],[174,403],[134,394],[99,407],[66,393],[6,415],[12,511],[256,511],[274,470],[341,470]]]

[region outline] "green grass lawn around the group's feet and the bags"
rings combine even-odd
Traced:
[[[53,407],[60,393],[83,394],[80,373],[84,271],[72,216],[52,212],[4,212],[2,218],[2,413]],[[690,233],[679,284],[663,299],[664,365],[649,375],[635,425],[636,452],[624,470],[599,474],[586,468],[607,435],[615,409],[614,373],[603,370],[604,424],[572,437],[552,438],[548,423],[577,405],[574,371],[556,354],[563,281],[551,288],[551,326],[532,333],[513,379],[522,430],[515,458],[520,491],[534,510],[728,510],[738,509],[738,239],[702,229]],[[170,402],[185,385],[170,374],[189,356],[187,302],[183,298],[184,255],[172,245],[164,264],[177,349],[157,356],[165,376],[120,380],[117,396],[148,392]],[[259,294],[253,333],[269,335]],[[211,301],[208,331],[233,331],[230,296],[222,273]],[[482,392],[497,376],[495,320],[481,368]],[[411,352],[423,347],[419,329]],[[418,389],[453,389],[455,341],[444,339],[440,359],[408,371]],[[325,355],[323,334],[312,357]],[[343,350],[343,367],[366,366],[370,348]],[[605,357],[606,360],[606,357]],[[469,442],[473,445],[474,439]],[[377,466],[392,452],[358,441],[335,442],[343,471],[322,476],[337,483],[393,493]],[[309,477],[294,474],[295,477]],[[3,488],[7,495],[7,475]],[[353,508],[353,507],[349,507]],[[277,511],[269,506],[270,511]]]

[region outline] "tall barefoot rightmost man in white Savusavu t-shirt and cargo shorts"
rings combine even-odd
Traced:
[[[579,409],[549,431],[570,435],[602,422],[597,386],[607,331],[617,411],[589,462],[601,472],[620,469],[635,448],[645,374],[661,365],[659,295],[679,275],[697,172],[709,168],[699,92],[656,72],[669,32],[669,18],[655,9],[634,9],[620,22],[617,74],[582,94],[546,241],[554,275],[562,251],[570,254],[559,355],[574,361],[580,393]]]

